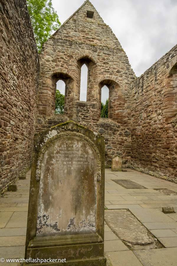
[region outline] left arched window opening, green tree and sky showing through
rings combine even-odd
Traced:
[[[58,80],[56,83],[55,113],[64,113],[65,82]]]

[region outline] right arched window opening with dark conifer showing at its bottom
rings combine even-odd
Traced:
[[[101,88],[101,117],[108,118],[109,89],[106,85]]]

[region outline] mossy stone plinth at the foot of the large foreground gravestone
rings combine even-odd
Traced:
[[[47,244],[47,243],[46,243]],[[47,259],[65,259],[63,262],[66,266],[106,266],[106,258],[104,257],[104,244],[74,244],[61,246],[41,246],[28,248],[27,259],[44,259],[42,265],[57,266],[62,262],[46,262]],[[41,265],[38,263],[23,263],[23,265]]]

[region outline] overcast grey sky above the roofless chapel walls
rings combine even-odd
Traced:
[[[61,23],[84,1],[52,0]],[[140,76],[177,43],[177,0],[92,0]]]

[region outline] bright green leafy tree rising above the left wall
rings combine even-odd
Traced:
[[[27,0],[28,11],[35,35],[38,52],[42,44],[57,30],[61,23],[52,6],[52,0]]]

